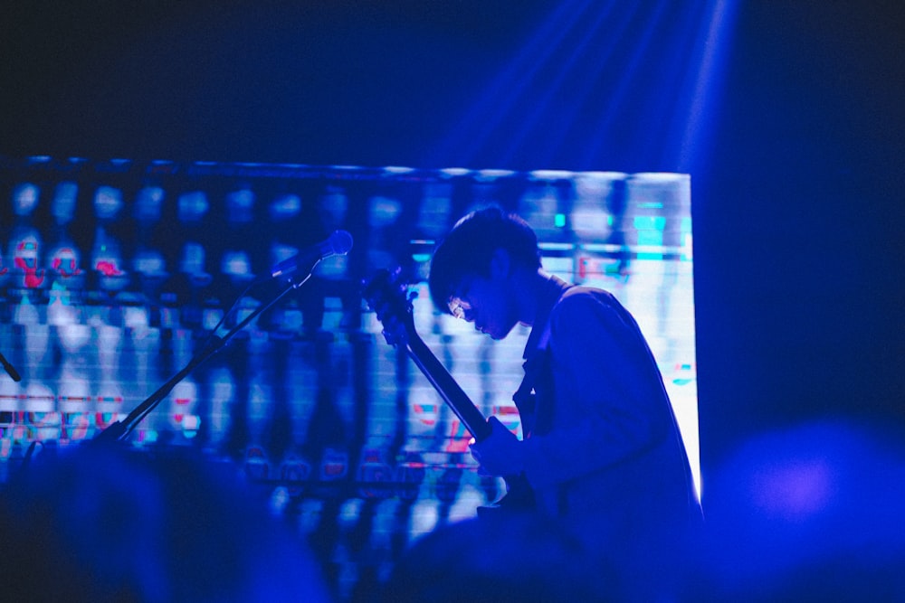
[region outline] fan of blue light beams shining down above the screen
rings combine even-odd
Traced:
[[[559,3],[435,152],[501,167],[622,162],[633,173],[690,173],[719,111],[737,8]]]

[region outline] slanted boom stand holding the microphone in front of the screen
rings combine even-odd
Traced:
[[[212,336],[208,339],[207,344],[205,344],[205,348],[201,350],[199,353],[196,353],[195,356],[186,364],[185,368],[181,371],[177,372],[173,377],[164,383],[157,391],[152,393],[147,400],[143,401],[135,410],[132,410],[129,415],[126,416],[125,419],[116,421],[115,423],[111,423],[107,428],[101,431],[99,434],[94,436],[90,440],[90,445],[98,445],[98,444],[110,444],[112,442],[123,442],[127,438],[129,438],[129,434],[131,434],[132,429],[138,425],[138,423],[148,416],[148,413],[151,410],[154,410],[162,400],[164,400],[170,391],[176,387],[178,382],[181,382],[183,379],[188,376],[190,372],[195,370],[195,367],[204,363],[208,358],[214,355],[214,353],[222,350],[229,340],[233,338],[233,335],[241,331],[245,325],[248,325],[252,320],[254,320],[257,316],[262,314],[265,310],[268,310],[276,304],[280,299],[289,293],[292,289],[296,289],[301,287],[310,277],[311,271],[314,269],[314,266],[317,265],[319,259],[311,265],[311,268],[307,272],[300,272],[300,275],[303,275],[304,278],[300,280],[295,280],[293,278],[289,279],[289,286],[284,287],[275,297],[273,297],[267,304],[262,306],[258,306],[254,308],[251,314],[245,316],[242,322],[238,325],[233,326],[233,328],[226,333],[223,337],[212,334]]]

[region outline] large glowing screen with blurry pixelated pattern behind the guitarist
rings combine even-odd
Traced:
[[[350,232],[348,255],[238,332],[129,436],[234,463],[294,518],[340,584],[415,535],[472,516],[501,482],[469,434],[386,344],[361,284],[400,267],[419,334],[485,415],[511,400],[528,335],[501,342],[436,313],[434,241],[496,203],[537,230],[548,271],[610,290],[638,319],[698,476],[686,174],[2,158],[0,480],[33,442],[78,445],[122,419],[287,282],[271,267]],[[341,590],[341,588],[340,588]]]

